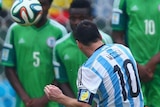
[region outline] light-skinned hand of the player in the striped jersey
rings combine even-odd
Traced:
[[[47,85],[44,91],[49,100],[58,101],[63,95],[62,91],[55,85]]]

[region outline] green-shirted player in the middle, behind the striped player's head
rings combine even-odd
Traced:
[[[55,76],[63,93],[70,97],[77,97],[77,72],[87,57],[80,51],[74,39],[77,24],[84,20],[92,20],[90,2],[74,0],[69,8],[69,21],[72,31],[56,42],[54,50]],[[112,43],[106,33],[100,31],[105,43]]]

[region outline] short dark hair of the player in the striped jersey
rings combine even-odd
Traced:
[[[76,28],[75,39],[84,45],[90,45],[90,43],[101,39],[101,36],[97,26],[93,22],[83,20]]]

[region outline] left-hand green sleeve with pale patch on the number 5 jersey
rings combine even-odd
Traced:
[[[13,43],[14,24],[8,29],[5,42],[2,48],[1,64],[4,66],[15,66],[15,49]]]

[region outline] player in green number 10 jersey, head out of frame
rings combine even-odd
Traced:
[[[160,0],[115,0],[113,40],[135,57],[145,105],[160,106]]]

